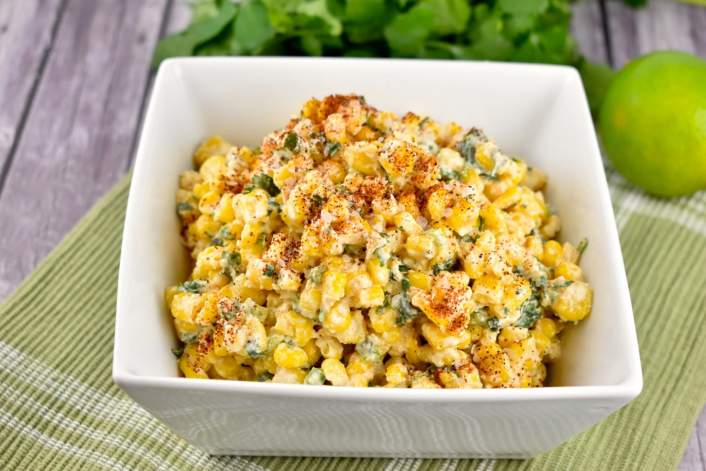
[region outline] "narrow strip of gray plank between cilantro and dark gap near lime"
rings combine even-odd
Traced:
[[[608,64],[608,44],[603,31],[603,16],[598,0],[582,0],[573,6],[571,33],[587,59]]]

